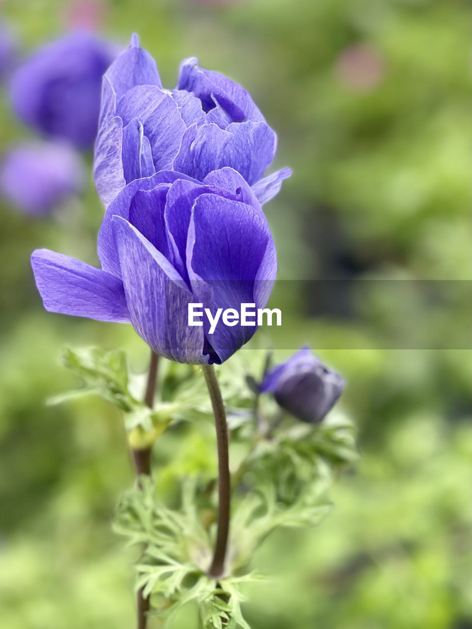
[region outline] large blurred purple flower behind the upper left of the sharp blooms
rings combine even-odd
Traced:
[[[38,50],[14,74],[11,100],[26,124],[50,138],[93,146],[101,80],[115,57],[109,43],[72,33]]]

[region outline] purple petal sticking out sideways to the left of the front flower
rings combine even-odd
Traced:
[[[130,322],[123,282],[110,273],[48,249],[33,252],[31,266],[48,311]]]

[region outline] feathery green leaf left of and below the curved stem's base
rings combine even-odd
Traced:
[[[188,603],[198,604],[205,629],[250,629],[242,616],[244,596],[239,587],[259,575],[228,576],[217,582],[206,575],[213,542],[201,526],[198,506],[203,495],[196,479],[182,486],[181,508],[170,509],[154,493],[154,485],[143,477],[142,486],[126,492],[118,505],[115,531],[138,544],[142,554],[136,565],[135,587],[145,596],[160,594],[166,604],[152,610],[171,626]]]

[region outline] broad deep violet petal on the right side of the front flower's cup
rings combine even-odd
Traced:
[[[215,194],[203,194],[196,200],[189,225],[187,268],[196,298],[213,315],[217,308],[240,311],[242,303],[255,303],[256,308],[266,305],[267,291],[257,289],[256,284],[263,281],[272,286],[276,275],[273,252],[271,231],[260,209]],[[209,328],[205,317],[206,338],[223,362],[254,335],[257,326],[220,323],[211,335]]]

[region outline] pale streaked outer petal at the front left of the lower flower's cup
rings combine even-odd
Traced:
[[[203,328],[188,326],[192,293],[162,253],[128,221],[113,217],[130,316],[155,352],[189,364],[206,364]]]

